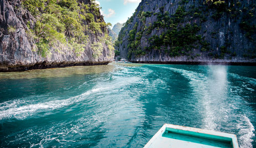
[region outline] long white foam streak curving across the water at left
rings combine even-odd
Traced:
[[[1,110],[0,110],[0,120],[5,118],[16,118],[16,119],[24,119],[28,116],[34,115],[37,112],[41,111],[51,111],[58,108],[62,108],[83,100],[88,99],[90,94],[98,93],[102,91],[110,91],[113,89],[118,89],[125,85],[138,82],[140,79],[138,77],[133,78],[123,78],[122,83],[117,83],[116,81],[113,83],[98,83],[95,88],[84,92],[80,95],[67,98],[65,100],[53,100],[49,102],[40,102],[36,104],[28,104],[26,101],[7,101],[1,103]],[[21,105],[21,103],[26,103],[28,105]]]

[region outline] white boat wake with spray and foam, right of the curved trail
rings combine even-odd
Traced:
[[[201,106],[203,129],[228,133],[238,130],[240,147],[252,147],[252,139],[255,136],[254,127],[247,115],[253,116],[253,113],[252,115],[248,113],[251,112],[249,106],[243,107],[246,102],[241,95],[232,93],[239,92],[236,89],[240,88],[230,86],[227,79],[229,75],[236,78],[242,76],[227,73],[226,66],[221,65],[208,66],[205,72],[208,75],[185,69],[164,68],[178,72],[189,80],[194,95],[198,98],[199,106]],[[249,79],[248,83],[251,85],[255,83],[252,78],[246,79]]]

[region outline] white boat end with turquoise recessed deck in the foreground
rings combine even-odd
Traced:
[[[238,148],[234,134],[164,124],[144,147],[234,147]]]

